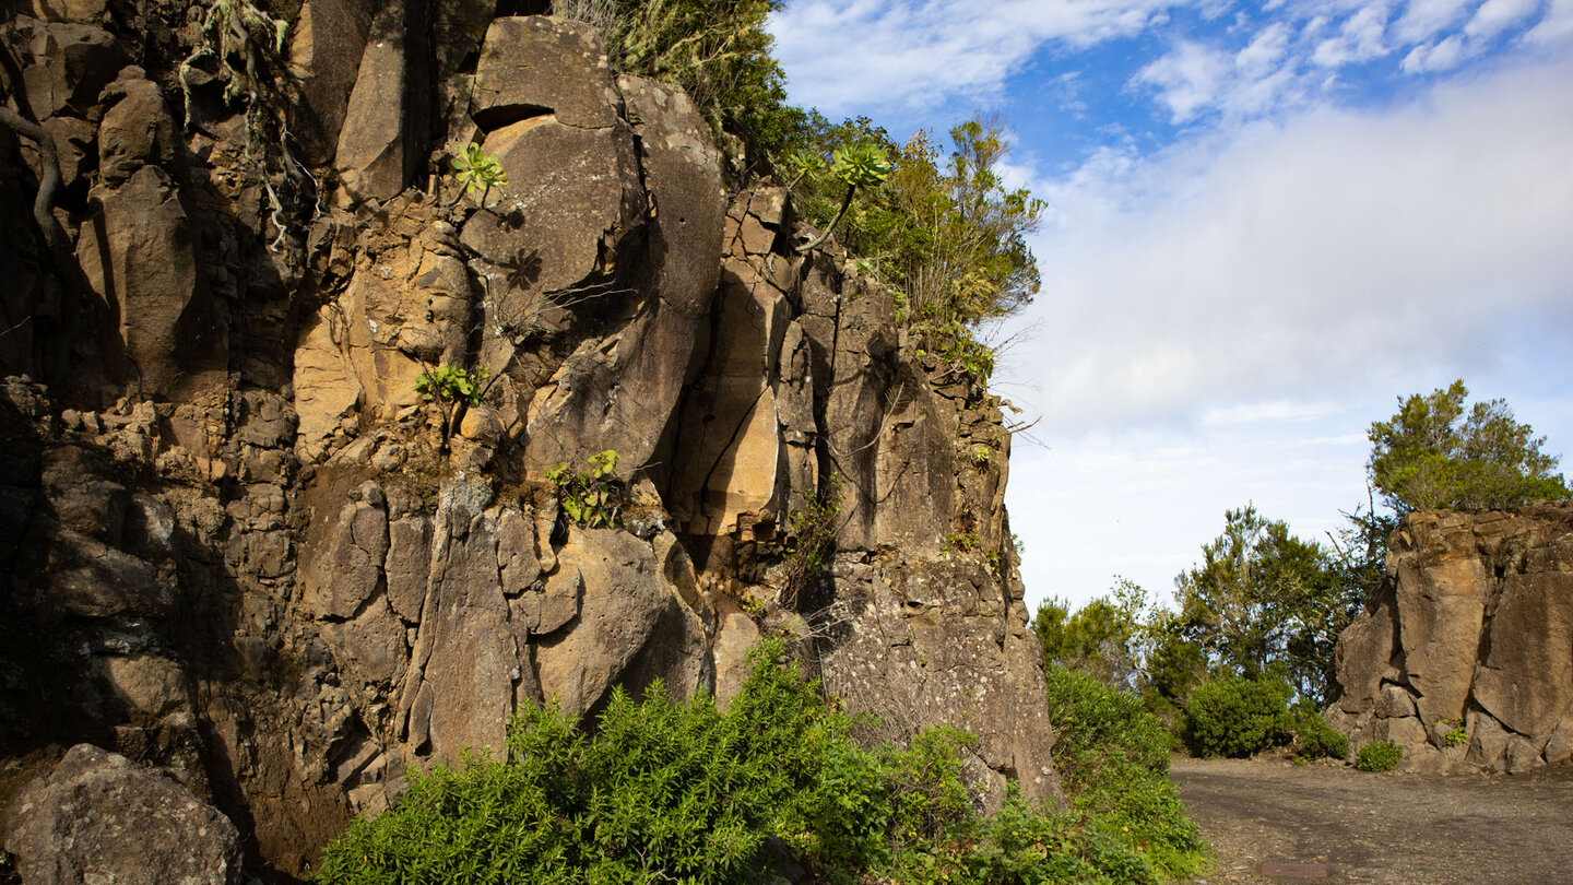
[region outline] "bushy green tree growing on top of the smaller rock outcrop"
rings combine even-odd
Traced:
[[[1372,485],[1400,517],[1409,510],[1479,510],[1529,501],[1562,501],[1568,487],[1540,450],[1545,436],[1520,424],[1507,400],[1475,403],[1453,381],[1446,391],[1398,402],[1389,420],[1372,424]]]

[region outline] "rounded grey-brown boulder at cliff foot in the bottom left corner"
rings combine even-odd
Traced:
[[[239,833],[175,779],[79,743],[14,802],[6,849],[28,885],[241,885]]]

